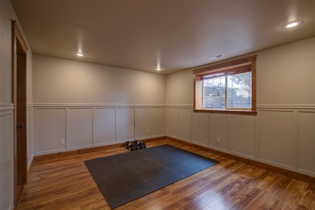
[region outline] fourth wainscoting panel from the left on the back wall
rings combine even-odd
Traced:
[[[117,142],[133,141],[135,139],[134,120],[134,108],[117,108]]]

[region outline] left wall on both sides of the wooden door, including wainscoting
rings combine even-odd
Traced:
[[[11,20],[18,22],[9,0],[0,0],[0,210],[13,209],[13,104],[11,101]],[[19,22],[18,22],[19,23]],[[20,27],[22,30],[22,28]],[[23,33],[23,30],[22,30]],[[27,59],[28,164],[32,162],[32,51]]]

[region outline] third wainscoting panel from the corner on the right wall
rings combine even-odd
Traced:
[[[192,113],[192,137],[191,140],[200,145],[208,145],[208,115],[204,113]]]

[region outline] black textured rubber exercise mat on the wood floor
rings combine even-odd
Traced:
[[[219,163],[171,145],[84,162],[111,209]]]

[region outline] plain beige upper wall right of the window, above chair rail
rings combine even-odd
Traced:
[[[315,37],[257,53],[257,105],[315,104]]]

